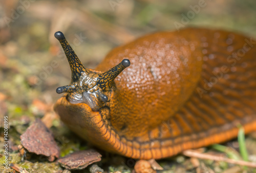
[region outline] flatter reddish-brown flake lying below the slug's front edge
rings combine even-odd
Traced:
[[[88,165],[99,162],[101,160],[101,155],[95,150],[84,150],[79,152],[74,152],[58,160],[62,167],[66,169],[83,169]]]

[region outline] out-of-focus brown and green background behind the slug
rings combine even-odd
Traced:
[[[1,0],[0,115],[11,126],[34,117],[59,125],[55,90],[71,73],[56,31],[94,68],[113,47],[157,31],[204,27],[256,37],[255,16],[254,0]]]

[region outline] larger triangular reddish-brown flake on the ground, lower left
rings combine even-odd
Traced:
[[[20,139],[30,153],[47,156],[51,162],[55,157],[59,157],[59,147],[52,133],[39,118],[20,136]]]

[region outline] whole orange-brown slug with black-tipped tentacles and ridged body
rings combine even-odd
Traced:
[[[84,68],[56,32],[71,83],[54,109],[81,138],[134,159],[161,159],[256,130],[256,41],[187,28],[143,36]]]

